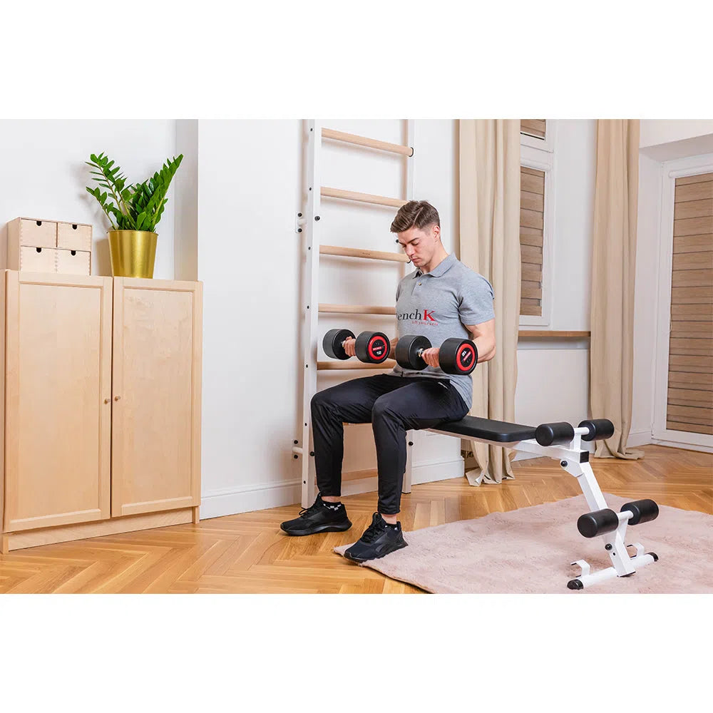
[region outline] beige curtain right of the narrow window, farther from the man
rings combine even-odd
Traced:
[[[643,458],[627,450],[631,429],[634,279],[639,195],[639,121],[597,121],[594,196],[590,408],[614,435],[597,441],[597,458]]]

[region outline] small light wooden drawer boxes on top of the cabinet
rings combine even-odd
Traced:
[[[16,218],[7,230],[8,270],[91,275],[91,225]]]

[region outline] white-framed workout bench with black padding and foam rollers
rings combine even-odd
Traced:
[[[626,503],[620,513],[607,508],[607,503],[597,483],[592,466],[589,463],[589,451],[582,448],[582,441],[599,441],[614,434],[614,426],[607,419],[582,421],[578,428],[566,422],[520,426],[506,424],[503,421],[478,419],[466,416],[461,421],[443,424],[438,429],[424,429],[434,434],[468,438],[471,441],[491,443],[493,446],[507,446],[514,451],[537,453],[560,462],[560,466],[577,478],[582,492],[590,507],[589,513],[581,515],[577,528],[586,538],[602,536],[605,550],[609,553],[612,566],[592,573],[585,560],[577,560],[572,565],[579,565],[581,574],[567,583],[570,589],[583,589],[597,582],[612,577],[629,577],[637,569],[658,560],[655,553],[645,553],[640,543],[625,544],[627,525],[638,525],[654,520],[659,514],[657,504],[652,500],[640,500]],[[411,473],[413,468],[411,453],[413,441],[407,441],[406,473],[404,473],[404,493],[411,492]],[[633,547],[636,554],[629,556],[627,548]]]

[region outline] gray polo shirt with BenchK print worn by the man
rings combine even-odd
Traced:
[[[466,324],[481,324],[495,317],[493,287],[483,275],[463,265],[451,253],[434,270],[411,272],[396,288],[397,337],[421,334],[440,347],[446,339],[473,339]],[[476,366],[476,369],[478,367]],[[434,366],[426,369],[402,369],[396,364],[391,374],[404,377],[450,379],[461,394],[468,410],[473,403],[473,377],[446,374]]]

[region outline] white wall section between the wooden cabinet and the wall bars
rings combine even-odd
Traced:
[[[297,120],[198,122],[202,517],[299,501],[301,153]]]

